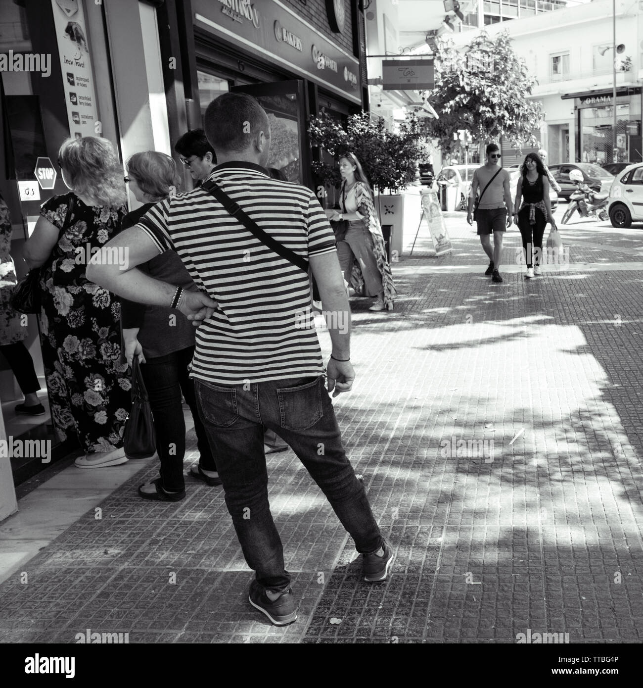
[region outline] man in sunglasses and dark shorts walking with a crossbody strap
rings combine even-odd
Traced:
[[[473,224],[472,206],[478,191],[479,202],[476,206],[478,235],[484,252],[489,258],[485,275],[491,275],[494,282],[501,282],[500,259],[502,255],[503,233],[512,224],[513,204],[509,186],[509,173],[500,166],[501,153],[496,144],[487,146],[486,164],[473,173],[467,222]],[[491,233],[493,232],[493,248]]]

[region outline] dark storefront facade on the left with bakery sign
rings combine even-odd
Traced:
[[[269,164],[312,187],[307,118],[368,109],[365,41],[351,0],[0,0],[0,193],[18,276],[41,204],[67,191],[57,156],[69,136],[108,138],[123,162],[157,150],[179,163],[174,144],[201,127],[208,103],[248,92],[270,117]],[[189,174],[183,182],[192,188]],[[129,204],[138,206],[133,195]],[[44,389],[39,323],[27,320]],[[56,444],[48,413],[17,419],[20,401],[0,354],[0,439],[48,438],[54,461],[75,449]],[[16,482],[43,467],[11,464]]]

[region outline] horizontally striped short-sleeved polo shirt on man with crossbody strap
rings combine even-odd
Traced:
[[[336,251],[310,189],[273,180],[249,162],[220,164],[208,180],[301,257]],[[316,331],[302,326],[309,323],[308,275],[255,238],[210,193],[198,188],[157,203],[137,227],[160,252],[175,250],[197,287],[219,304],[197,328],[193,378],[241,385],[323,374]]]

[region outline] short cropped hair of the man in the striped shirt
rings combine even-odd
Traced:
[[[224,93],[212,100],[206,109],[204,127],[217,151],[244,151],[260,131],[270,138],[265,110],[245,93]]]

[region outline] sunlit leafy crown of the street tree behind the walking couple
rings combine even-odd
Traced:
[[[453,138],[458,129],[471,131],[481,151],[501,136],[516,148],[538,143],[532,130],[543,111],[529,98],[536,79],[514,53],[508,31],[495,39],[481,32],[465,52],[443,42],[435,67],[435,89],[426,94],[439,119],[425,120],[424,131],[439,139],[444,153],[459,147]]]

